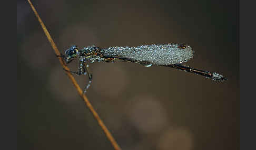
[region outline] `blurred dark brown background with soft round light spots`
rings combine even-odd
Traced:
[[[239,149],[235,1],[32,1],[62,52],[72,45],[189,44],[186,65],[93,63],[86,93],[123,149]],[[113,149],[78,96],[26,1],[17,1],[18,149]],[[77,61],[70,65],[77,69]],[[84,88],[87,77],[76,76]]]

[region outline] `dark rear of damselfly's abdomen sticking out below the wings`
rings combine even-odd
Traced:
[[[186,72],[191,72],[191,73],[199,74],[201,76],[204,76],[206,78],[209,78],[209,79],[212,79],[212,80],[215,80],[215,81],[228,80],[227,78],[223,77],[219,73],[216,73],[216,72],[212,73],[212,72],[208,72],[208,71],[198,70],[198,69],[186,67],[186,66],[181,65],[181,64],[174,64],[174,65],[170,65],[168,67],[172,67],[172,68],[179,69],[179,70],[184,70]]]

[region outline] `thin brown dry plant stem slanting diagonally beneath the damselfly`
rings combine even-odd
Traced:
[[[60,55],[60,51],[58,51],[53,39],[51,38],[50,34],[48,33],[43,21],[41,20],[40,16],[37,14],[34,6],[32,5],[30,0],[27,0],[28,3],[30,4],[31,8],[33,9],[39,23],[41,24],[44,33],[47,37],[47,39],[50,41],[52,48],[54,49],[56,55]],[[63,66],[63,68],[67,73],[67,76],[71,79],[72,83],[74,84],[78,94],[82,97],[82,99],[84,100],[84,102],[86,103],[87,107],[89,108],[89,110],[92,112],[93,116],[95,117],[95,119],[97,120],[97,122],[99,123],[99,125],[101,126],[102,130],[104,131],[104,133],[106,134],[107,138],[109,138],[109,141],[111,142],[111,144],[113,145],[114,149],[121,149],[119,147],[119,145],[116,143],[116,141],[114,140],[113,136],[111,135],[111,133],[109,132],[109,130],[107,129],[107,127],[105,126],[105,124],[103,123],[103,121],[100,119],[100,116],[97,114],[97,112],[93,109],[92,104],[88,101],[87,97],[85,96],[85,94],[83,93],[82,89],[79,87],[79,85],[77,84],[75,78],[72,76],[72,74],[68,71],[70,69],[67,68],[66,63],[63,61],[63,59],[61,57],[58,57],[61,65]]]

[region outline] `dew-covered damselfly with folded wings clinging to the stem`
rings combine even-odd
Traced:
[[[142,45],[138,47],[110,47],[100,48],[96,46],[88,46],[78,49],[73,45],[61,55],[66,61],[70,63],[74,59],[79,60],[78,71],[70,71],[74,74],[85,75],[88,74],[88,84],[84,92],[90,87],[92,83],[92,73],[88,69],[88,63],[93,62],[114,62],[125,61],[139,63],[145,67],[164,66],[171,67],[186,72],[200,74],[206,78],[215,81],[224,81],[227,78],[216,72],[209,72],[186,67],[182,63],[187,62],[193,58],[194,51],[185,44],[165,44],[165,45]]]

